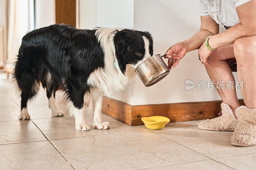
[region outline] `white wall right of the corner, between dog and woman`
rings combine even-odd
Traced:
[[[183,41],[200,29],[196,1],[134,0],[134,29],[149,31],[154,37],[154,54],[164,54],[176,42]],[[166,61],[166,60],[165,60]],[[198,51],[188,52],[169,75],[156,85],[145,87],[134,80],[133,104],[159,104],[221,100],[216,89],[185,89],[185,81],[210,80]],[[241,95],[239,96],[241,97]]]

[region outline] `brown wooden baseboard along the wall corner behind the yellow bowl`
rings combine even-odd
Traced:
[[[171,122],[211,119],[220,112],[222,101],[130,105],[104,96],[102,112],[128,125],[142,125],[141,117],[165,116]],[[243,100],[239,100],[244,105]],[[89,101],[85,102],[86,105]]]

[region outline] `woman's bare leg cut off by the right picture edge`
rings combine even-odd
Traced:
[[[234,42],[237,76],[246,107],[256,109],[256,36],[238,38]]]

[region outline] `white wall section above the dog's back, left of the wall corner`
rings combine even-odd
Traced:
[[[80,28],[133,28],[133,0],[80,0]]]

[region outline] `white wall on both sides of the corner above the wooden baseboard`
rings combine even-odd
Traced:
[[[154,54],[163,55],[170,46],[191,37],[200,29],[196,1],[107,2],[80,0],[80,27],[133,26],[136,30],[149,31],[154,38]],[[131,9],[131,6],[134,8]],[[118,18],[115,15],[118,15]],[[237,78],[236,73],[234,75]],[[194,89],[190,91],[185,89],[187,79],[195,83]],[[199,80],[208,81],[210,78],[204,65],[198,60],[198,51],[195,50],[188,52],[179,65],[157,84],[145,87],[136,76],[124,91],[117,92],[112,97],[133,105],[221,100],[216,89],[197,90],[196,84]],[[238,97],[242,98],[239,90]]]

